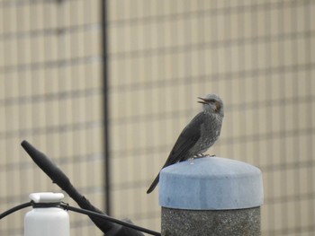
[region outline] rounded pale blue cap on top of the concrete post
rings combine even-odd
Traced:
[[[220,157],[179,162],[163,169],[159,205],[187,210],[229,210],[263,205],[261,170]]]

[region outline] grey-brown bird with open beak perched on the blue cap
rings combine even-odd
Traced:
[[[171,153],[162,167],[172,165],[175,162],[183,162],[194,156],[206,152],[220,135],[222,118],[224,117],[223,103],[216,94],[208,94],[202,101],[202,111],[184,127],[179,135]],[[159,172],[148,188],[147,194],[157,187]]]

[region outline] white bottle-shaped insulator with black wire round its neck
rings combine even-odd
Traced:
[[[33,193],[36,206],[24,217],[24,236],[69,236],[70,223],[67,211],[58,207],[62,193]]]

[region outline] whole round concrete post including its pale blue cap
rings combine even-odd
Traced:
[[[259,169],[204,157],[161,171],[159,205],[164,236],[257,236],[264,191]]]

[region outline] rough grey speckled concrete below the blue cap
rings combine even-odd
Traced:
[[[238,210],[162,207],[163,236],[259,236],[260,206]]]

